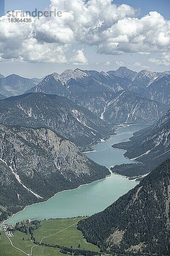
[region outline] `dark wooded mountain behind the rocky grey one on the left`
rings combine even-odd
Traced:
[[[113,125],[69,99],[28,93],[0,101],[0,122],[7,125],[47,127],[85,149],[113,134]]]

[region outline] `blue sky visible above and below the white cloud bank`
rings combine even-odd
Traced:
[[[117,5],[125,3],[132,6],[134,9],[139,9],[138,18],[147,15],[151,11],[157,11],[164,16],[165,20],[170,20],[170,0],[114,0],[113,3],[116,3]],[[34,11],[35,8],[43,11],[45,7],[49,6],[49,4],[50,0],[5,0],[5,11],[7,12],[15,9]],[[49,35],[47,35],[47,37],[48,36]],[[85,58],[83,57],[84,64],[71,64],[70,61],[68,61],[68,63],[57,63],[57,61],[48,61],[48,63],[44,63],[43,61],[40,63],[41,61],[39,61],[37,63],[37,61],[30,60],[22,62],[0,61],[0,73],[3,73],[5,76],[11,73],[17,73],[26,77],[42,77],[52,72],[61,73],[63,70],[68,68],[75,69],[79,67],[80,69],[108,71],[115,70],[119,68],[119,66],[127,66],[128,68],[136,71],[144,68],[153,71],[170,70],[169,50],[167,50],[164,55],[162,55],[162,49],[160,49],[160,51],[150,51],[150,55],[145,53],[139,54],[137,52],[130,52],[128,50],[123,52],[123,54],[112,54],[111,50],[110,52],[107,52],[104,48],[101,50],[101,52],[99,52],[99,50],[97,50],[97,45],[95,44],[91,44],[91,46],[87,43],[72,45],[71,49],[75,52],[77,49],[79,49],[80,53],[82,54],[81,49],[83,49],[83,54],[85,55]],[[8,52],[7,55],[9,55]],[[81,56],[78,57],[80,58]],[[85,63],[85,59],[88,60],[88,63]]]

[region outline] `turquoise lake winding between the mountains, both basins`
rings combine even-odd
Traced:
[[[106,142],[99,142],[94,146],[94,152],[85,153],[87,157],[110,169],[111,166],[122,163],[133,163],[125,158],[125,151],[111,148],[111,145],[128,141],[135,131],[139,131],[148,125],[130,125],[119,128],[117,135],[112,136]],[[6,223],[15,224],[24,219],[67,218],[78,215],[92,215],[100,212],[120,196],[124,195],[137,182],[129,181],[125,177],[111,174],[103,180],[80,186],[78,189],[63,191],[49,199],[47,202],[34,204],[18,212]]]

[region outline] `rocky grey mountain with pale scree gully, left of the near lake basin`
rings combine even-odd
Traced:
[[[6,215],[108,174],[50,129],[0,125],[0,205]]]

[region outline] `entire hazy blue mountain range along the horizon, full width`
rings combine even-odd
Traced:
[[[61,74],[52,73],[42,79],[23,79],[11,75],[0,79],[0,92],[4,97],[30,92],[65,96],[108,122],[147,123],[150,120],[153,123],[170,108],[169,77],[170,71],[157,73],[141,70],[137,73],[119,67],[116,71],[98,72],[77,68]],[[114,107],[112,102],[125,90],[129,91],[130,99],[123,97]],[[122,104],[125,104],[125,110]],[[112,106],[109,111],[108,106]]]

